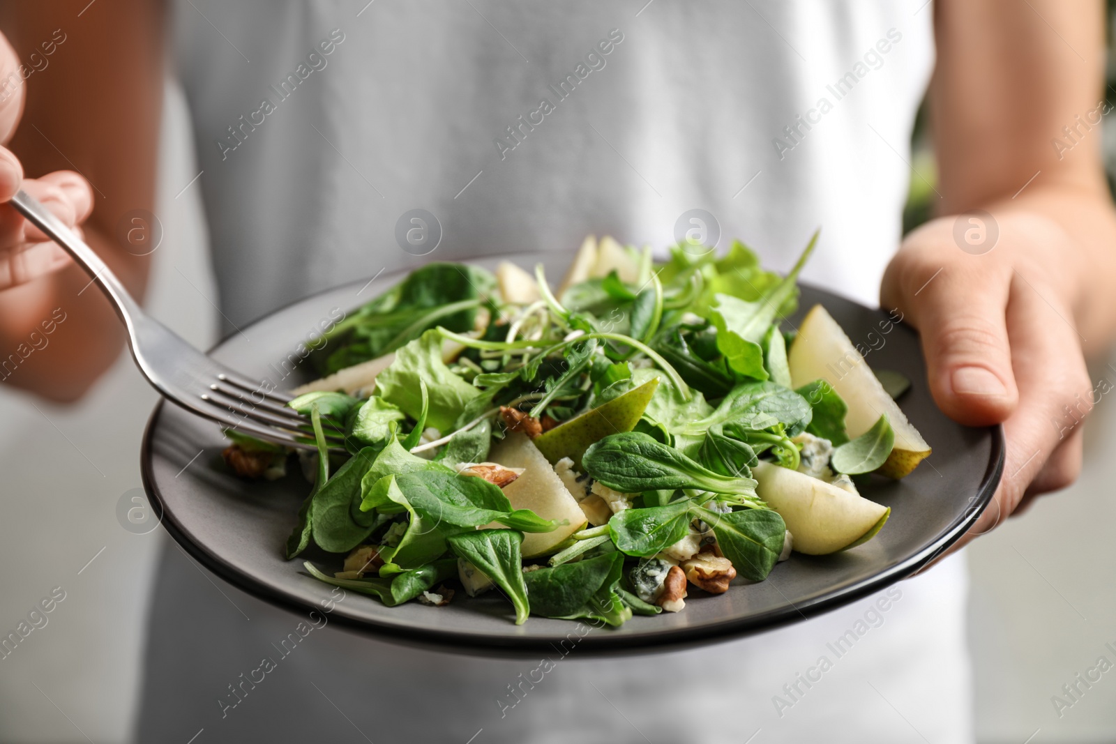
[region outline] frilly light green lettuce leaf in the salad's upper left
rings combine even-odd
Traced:
[[[429,330],[395,354],[395,361],[376,377],[379,396],[417,419],[422,414],[422,388],[430,386],[426,425],[450,431],[458,414],[471,399],[481,395],[442,361],[442,336]]]

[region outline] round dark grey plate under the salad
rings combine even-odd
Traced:
[[[551,277],[561,276],[569,261],[564,254],[508,258],[521,265],[541,258]],[[492,268],[496,261],[477,263]],[[307,379],[308,371],[298,369],[280,383],[283,360],[291,355],[297,359],[299,341],[328,321],[330,309],[348,311],[401,278],[377,279],[360,297],[363,280],[297,302],[230,336],[212,354],[248,375],[294,387]],[[886,318],[883,312],[804,287],[801,309],[791,321],[797,323],[817,302],[855,344],[874,348],[867,356],[870,366],[911,378],[912,388],[899,404],[934,450],[903,481],[873,480],[862,490],[892,508],[887,524],[864,545],[826,557],[795,553],[767,581],[738,581],[719,597],[693,591],[684,611],[635,617],[619,629],[587,635],[579,648],[607,653],[704,644],[819,615],[916,572],[963,534],[988,504],[1003,468],[999,427],[966,428],[939,412],[926,387],[917,336],[905,326],[882,334],[877,323]],[[221,460],[223,446],[220,431],[210,422],[173,405],[155,407],[142,467],[144,486],[156,513],[162,511],[164,526],[193,558],[241,589],[297,611],[319,608],[331,588],[306,574],[301,561],[312,560],[333,571],[340,570],[340,557],[312,548],[296,561],[285,561],[281,554],[309,484],[294,463],[286,479],[243,481]],[[532,653],[561,641],[575,628],[568,620],[538,617],[517,627],[512,617],[511,606],[496,592],[471,599],[459,591],[443,608],[417,602],[387,608],[374,598],[358,597],[337,605],[331,619],[403,642],[465,653]]]

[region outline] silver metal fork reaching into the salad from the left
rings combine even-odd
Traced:
[[[100,257],[37,199],[20,190],[11,205],[61,245],[109,299],[127,329],[136,366],[164,398],[224,428],[289,447],[315,448],[297,438],[312,439],[309,429],[299,432],[310,421],[287,406],[288,394],[213,360],[144,312]],[[326,431],[330,447],[341,448],[344,433]]]

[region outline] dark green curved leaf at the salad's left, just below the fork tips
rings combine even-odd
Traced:
[[[311,531],[314,542],[326,552],[348,552],[372,532],[374,515],[358,516],[356,505],[360,479],[377,454],[372,447],[360,450],[315,494],[309,512]]]

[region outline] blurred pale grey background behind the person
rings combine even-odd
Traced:
[[[1109,1],[1109,39],[1113,0]],[[1109,45],[1110,47],[1110,45]],[[1109,83],[1116,65],[1109,54]],[[1116,103],[1113,87],[1107,91]],[[164,228],[150,310],[187,340],[217,340],[215,290],[185,105],[172,85],[163,124],[160,203]],[[925,116],[914,133],[910,230],[930,216],[934,160]],[[1116,123],[1103,124],[1116,183]],[[1116,384],[1116,357],[1093,379]],[[0,742],[125,742],[137,699],[146,600],[162,530],[133,534],[117,506],[140,487],[138,454],[156,396],[122,357],[79,405],[57,407],[0,386],[0,630],[61,587],[65,599],[0,663]],[[1094,743],[1116,732],[1116,680],[1106,675],[1059,717],[1051,697],[1112,658],[1116,646],[1116,404],[1106,397],[1086,424],[1083,475],[1040,499],[969,549],[969,644],[978,741]],[[903,659],[895,659],[903,664]]]

